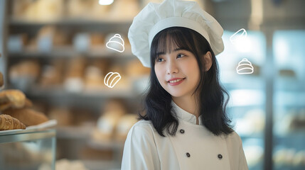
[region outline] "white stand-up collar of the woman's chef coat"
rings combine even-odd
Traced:
[[[188,113],[187,111],[184,111],[182,108],[180,108],[173,100],[171,100],[171,106],[173,106],[173,111],[176,112],[178,120],[183,120],[188,123],[192,123],[196,125],[196,115],[193,115],[192,113]],[[199,116],[199,125],[203,125],[201,121],[201,116]]]

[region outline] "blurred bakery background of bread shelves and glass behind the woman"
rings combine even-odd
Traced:
[[[0,133],[0,169],[120,169],[150,72],[127,33],[147,3],[0,0],[0,91],[22,91],[31,114],[57,120],[55,137]],[[198,4],[225,30],[220,79],[250,170],[305,169],[305,1]],[[114,39],[119,50],[107,47]],[[239,74],[242,63],[252,74]]]

